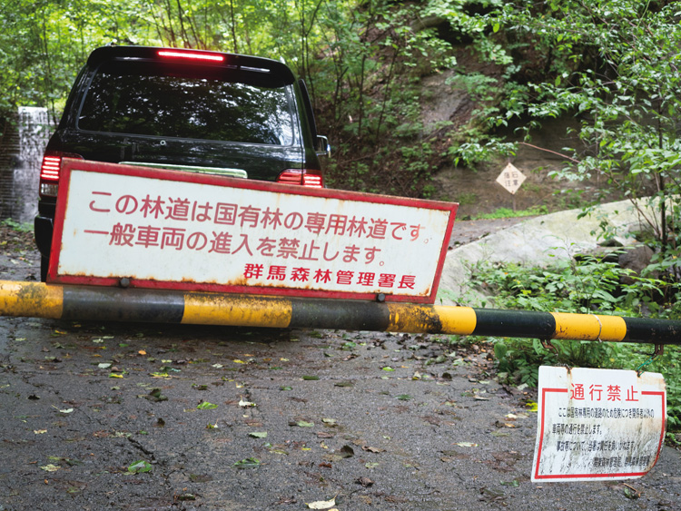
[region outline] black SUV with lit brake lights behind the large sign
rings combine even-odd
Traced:
[[[97,48],[78,74],[40,174],[45,280],[62,157],[322,187],[310,97],[286,64],[239,54]]]

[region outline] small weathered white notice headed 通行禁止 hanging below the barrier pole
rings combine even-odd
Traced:
[[[659,457],[665,423],[661,374],[540,367],[532,481],[643,477]]]

